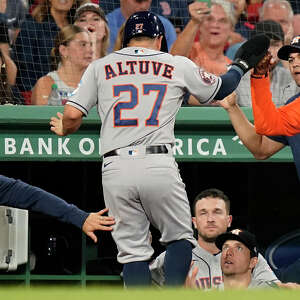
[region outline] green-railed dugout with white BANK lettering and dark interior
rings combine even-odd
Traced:
[[[54,193],[87,211],[104,207],[99,155],[100,122],[96,111],[68,137],[49,130],[49,119],[62,107],[11,106],[0,111],[0,172]],[[252,118],[251,108],[243,108]],[[222,189],[232,201],[232,227],[254,232],[262,250],[298,229],[299,182],[289,148],[257,161],[240,143],[220,107],[182,107],[176,118],[174,154],[190,201],[203,189]],[[116,179],[117,180],[117,179]],[[99,244],[80,230],[30,213],[30,263],[0,280],[26,284],[105,280],[120,284],[116,247],[109,233]],[[153,229],[156,253],[163,251]]]

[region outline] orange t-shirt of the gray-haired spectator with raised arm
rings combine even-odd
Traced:
[[[227,65],[231,63],[231,60],[225,55],[220,56],[218,60],[212,60],[199,42],[194,42],[190,53],[190,59],[198,66],[202,67],[206,72],[217,76],[225,74],[227,72]]]

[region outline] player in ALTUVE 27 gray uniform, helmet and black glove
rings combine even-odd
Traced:
[[[228,73],[216,77],[185,57],[168,54],[159,18],[135,13],[125,24],[123,49],[92,62],[64,114],[51,118],[51,130],[67,135],[97,106],[104,200],[116,219],[112,236],[126,286],[151,283],[150,223],[166,245],[166,284],[184,283],[195,240],[172,155],[175,116],[186,91],[201,103],[231,93],[265,55],[269,40],[260,36],[244,45]]]

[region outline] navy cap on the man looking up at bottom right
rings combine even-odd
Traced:
[[[234,240],[243,243],[250,250],[251,257],[258,256],[255,235],[249,231],[234,229],[232,231],[220,234],[216,238],[215,244],[220,250],[222,250],[224,243],[228,240]]]

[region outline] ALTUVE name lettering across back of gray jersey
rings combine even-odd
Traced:
[[[114,65],[105,65],[104,69],[106,80],[118,76],[146,75],[149,73],[154,76],[162,76],[168,79],[172,79],[174,66],[150,60],[128,60],[116,62]]]

